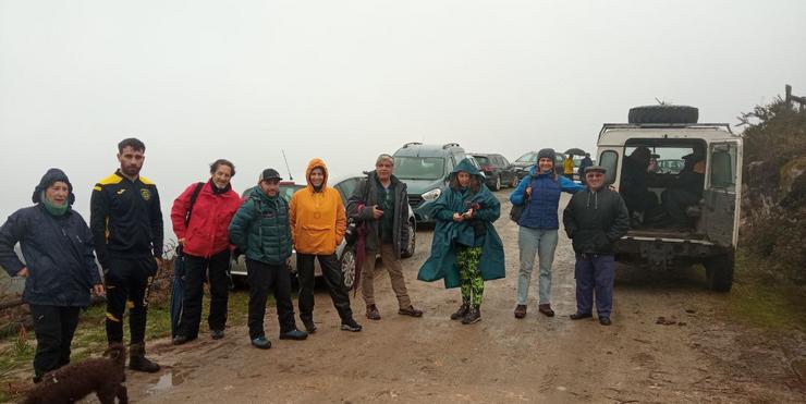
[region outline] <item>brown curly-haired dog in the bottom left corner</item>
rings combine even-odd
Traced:
[[[95,392],[101,404],[129,403],[123,382],[126,380],[126,347],[111,344],[101,358],[87,359],[53,370],[36,384],[24,403],[74,403]]]

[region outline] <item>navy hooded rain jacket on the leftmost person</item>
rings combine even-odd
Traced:
[[[84,218],[70,207],[75,200],[72,188],[63,216],[54,217],[45,209],[41,192],[45,184],[57,177],[66,182],[61,170],[50,169],[34,192],[32,199],[37,205],[15,211],[0,228],[0,266],[12,277],[28,268],[25,303],[86,307],[89,290],[101,284],[93,254],[93,233]],[[14,252],[16,243],[26,264]]]

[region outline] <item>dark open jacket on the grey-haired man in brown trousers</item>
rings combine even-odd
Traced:
[[[380,250],[380,221],[373,217],[373,205],[378,205],[378,182],[375,171],[361,180],[347,199],[347,217],[365,224],[367,249]],[[394,255],[400,258],[403,246],[408,244],[408,194],[406,184],[392,175],[394,184],[394,221],[392,224],[392,246]],[[369,209],[366,209],[369,207]]]

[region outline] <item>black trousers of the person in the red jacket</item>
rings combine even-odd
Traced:
[[[202,322],[202,298],[205,294],[205,276],[210,281],[210,314],[207,325],[210,330],[223,330],[227,326],[227,302],[230,296],[230,249],[224,249],[210,258],[185,254],[185,295],[182,299],[182,317],[179,320],[179,335],[190,339],[198,336]],[[209,274],[208,274],[209,273]]]

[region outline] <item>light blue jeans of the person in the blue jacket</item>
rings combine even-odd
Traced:
[[[520,227],[517,247],[521,250],[521,269],[517,273],[517,304],[525,305],[529,297],[532,268],[535,266],[535,254],[539,258],[540,285],[539,304],[551,303],[551,264],[557,248],[557,229],[533,229]]]

